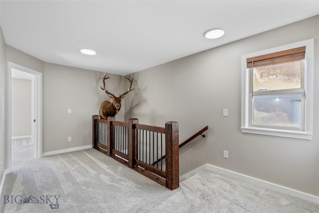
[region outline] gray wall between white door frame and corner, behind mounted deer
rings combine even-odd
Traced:
[[[109,100],[100,88],[104,73],[45,63],[43,153],[92,144],[92,115]],[[107,89],[124,92],[124,77],[110,75]],[[103,84],[103,83],[102,83]],[[119,94],[117,94],[119,93]],[[124,121],[124,103],[116,120]],[[72,109],[68,114],[67,109]],[[72,141],[67,138],[71,136]]]

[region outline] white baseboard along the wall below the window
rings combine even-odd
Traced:
[[[265,188],[268,188],[268,189],[271,189],[271,190],[274,190],[274,191],[277,191],[277,192],[281,192],[281,193],[284,193],[284,194],[287,194],[287,195],[290,195],[290,196],[294,196],[294,197],[297,197],[297,198],[300,198],[300,199],[303,199],[303,200],[306,200],[306,201],[310,201],[310,202],[313,202],[315,204],[319,204],[319,197],[316,197],[316,196],[313,196],[313,195],[309,195],[309,194],[306,194],[306,193],[303,193],[303,192],[299,192],[297,190],[293,190],[293,189],[290,189],[290,188],[287,188],[287,187],[283,187],[283,186],[280,186],[280,185],[277,185],[277,184],[273,184],[273,183],[269,183],[267,181],[263,181],[263,180],[259,180],[259,179],[256,179],[256,178],[253,178],[253,177],[250,177],[250,176],[247,176],[247,175],[243,175],[243,174],[240,174],[240,173],[236,173],[236,172],[233,172],[233,171],[230,171],[230,170],[226,170],[226,169],[223,169],[223,168],[219,168],[219,167],[215,167],[215,166],[212,166],[212,165],[209,165],[209,164],[205,164],[201,167],[198,167],[197,169],[194,169],[193,171],[190,171],[188,173],[186,173],[185,175],[182,175],[179,177],[179,180],[180,181],[183,181],[187,178],[190,178],[191,176],[203,171],[203,170],[211,170],[213,172],[217,172],[217,173],[221,173],[223,175],[227,175],[227,176],[230,176],[232,178],[236,178],[236,179],[239,179],[239,180],[242,180],[242,181],[246,181],[246,182],[249,182],[249,183],[253,183],[253,184],[256,184],[256,185],[259,185],[259,186],[262,186],[262,187],[265,187]]]

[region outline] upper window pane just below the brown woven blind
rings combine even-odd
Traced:
[[[301,88],[303,61],[254,67],[254,91]]]

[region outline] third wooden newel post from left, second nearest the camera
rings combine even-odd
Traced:
[[[136,128],[134,128],[134,124],[138,124],[138,123],[139,123],[139,120],[137,118],[129,119],[129,147],[128,147],[129,168],[133,168],[135,165],[137,130]]]

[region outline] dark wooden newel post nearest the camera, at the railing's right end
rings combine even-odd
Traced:
[[[165,123],[165,140],[166,188],[174,190],[179,187],[179,141],[177,122],[170,121]]]

